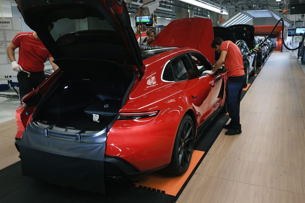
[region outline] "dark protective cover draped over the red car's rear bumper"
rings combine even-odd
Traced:
[[[22,174],[48,183],[104,192],[104,142],[88,143],[23,132],[19,149]]]

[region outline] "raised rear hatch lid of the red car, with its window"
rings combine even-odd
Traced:
[[[104,59],[136,65],[142,72],[140,48],[123,0],[16,0],[16,3],[25,23],[55,59]],[[54,23],[51,31],[50,23]]]

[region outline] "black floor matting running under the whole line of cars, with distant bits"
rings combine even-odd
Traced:
[[[259,74],[260,70],[260,68],[257,68],[257,74]],[[250,77],[249,83],[252,84],[255,78],[255,76]],[[245,93],[246,91],[243,91],[242,97]],[[228,115],[220,113],[202,132],[201,137],[195,143],[194,149],[205,151],[205,153],[176,197],[160,191],[139,189],[129,180],[106,181],[105,195],[52,185],[31,177],[22,176],[20,162],[17,162],[0,170],[0,203],[174,203],[192,178],[204,156],[222,131],[223,124],[228,119]]]

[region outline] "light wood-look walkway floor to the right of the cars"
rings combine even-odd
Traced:
[[[179,203],[305,202],[305,74],[273,52],[241,102],[242,134],[221,132]]]

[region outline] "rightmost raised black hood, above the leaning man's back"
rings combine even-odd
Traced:
[[[239,24],[239,25],[231,25],[228,28],[234,30],[235,42],[237,40],[244,40],[247,43],[249,49],[253,49],[253,41],[254,41],[253,25]]]

